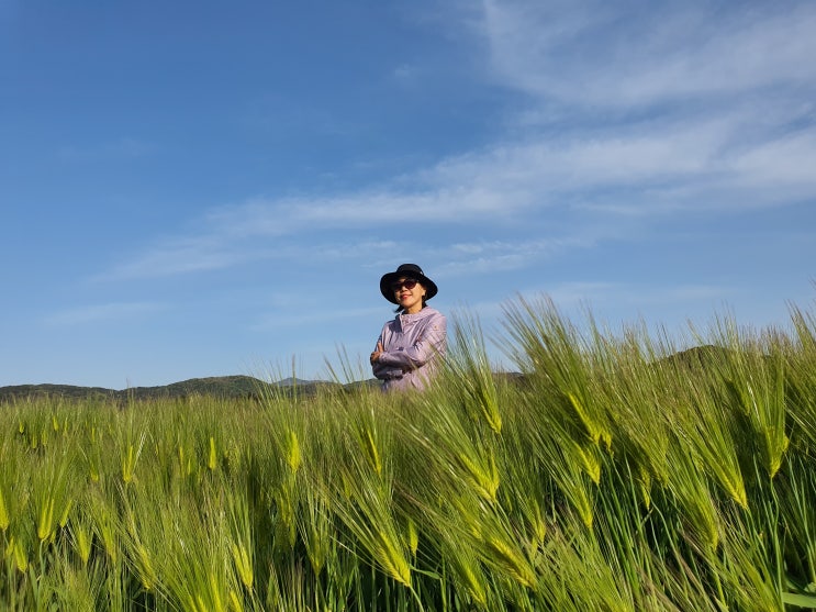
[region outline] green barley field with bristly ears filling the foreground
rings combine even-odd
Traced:
[[[685,349],[518,299],[521,376],[455,321],[422,394],[0,405],[0,609],[816,609],[812,312]]]

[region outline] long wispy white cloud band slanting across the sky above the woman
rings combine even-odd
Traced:
[[[737,143],[744,122],[740,116],[651,131],[634,125],[594,136],[501,144],[446,158],[413,181],[400,177],[335,197],[256,198],[211,210],[198,233],[165,238],[103,276],[225,269],[290,253],[297,247],[287,240],[294,235],[311,236],[309,252],[315,257],[333,248],[320,233],[337,230],[392,234],[394,227],[467,225],[490,229],[490,235],[505,226],[522,232],[528,248],[540,249],[523,236],[524,224],[548,210],[554,220],[586,211],[573,235],[559,237],[561,246],[582,246],[588,225],[612,224],[616,215],[785,205],[791,194],[816,193],[809,171],[816,166],[816,131]],[[614,190],[625,190],[625,197],[615,197]]]

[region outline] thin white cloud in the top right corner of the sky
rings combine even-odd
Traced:
[[[484,0],[481,34],[500,82],[543,99],[649,105],[813,86],[813,3],[715,4]]]

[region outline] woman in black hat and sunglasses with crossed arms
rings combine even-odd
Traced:
[[[445,356],[447,320],[426,305],[436,291],[415,264],[403,264],[380,279],[380,292],[398,307],[371,353],[371,369],[383,380],[383,390],[424,389]]]

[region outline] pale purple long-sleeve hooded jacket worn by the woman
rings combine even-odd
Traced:
[[[383,325],[382,345],[371,369],[383,390],[424,389],[447,347],[447,320],[431,307],[415,314],[398,314]]]

